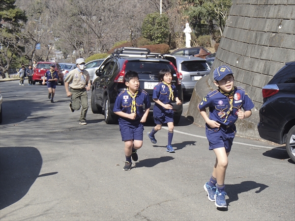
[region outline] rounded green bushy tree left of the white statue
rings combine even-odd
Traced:
[[[152,44],[162,44],[168,42],[170,27],[169,17],[158,12],[148,14],[142,25],[142,34],[151,41]]]

